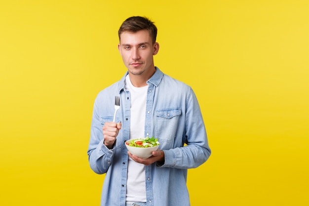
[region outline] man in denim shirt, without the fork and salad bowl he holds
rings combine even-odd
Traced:
[[[148,18],[122,23],[118,49],[128,71],[94,103],[87,153],[92,170],[106,173],[101,206],[190,206],[187,169],[211,153],[192,88],[154,66],[156,34]],[[120,109],[113,122],[115,96]],[[127,151],[126,140],[147,136],[160,142],[152,157]]]

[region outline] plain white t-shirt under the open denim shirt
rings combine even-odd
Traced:
[[[135,87],[129,75],[125,78],[125,87],[131,94],[130,139],[144,138],[147,86]],[[128,160],[127,202],[146,202],[145,165]]]

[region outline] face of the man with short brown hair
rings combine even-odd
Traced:
[[[118,49],[124,65],[132,75],[148,77],[154,73],[154,58],[159,45],[154,43],[148,30],[123,32]]]

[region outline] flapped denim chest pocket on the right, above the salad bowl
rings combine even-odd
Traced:
[[[163,143],[161,145],[162,147],[168,147],[168,145],[173,145],[179,124],[178,121],[181,115],[181,109],[169,108],[157,110],[154,112],[154,115],[155,137],[160,143]]]

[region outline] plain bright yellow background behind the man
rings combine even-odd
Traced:
[[[92,106],[126,71],[117,30],[132,15],[154,20],[155,65],[200,102],[212,156],[189,170],[192,206],[309,205],[308,13],[308,0],[0,0],[0,205],[99,205]]]

